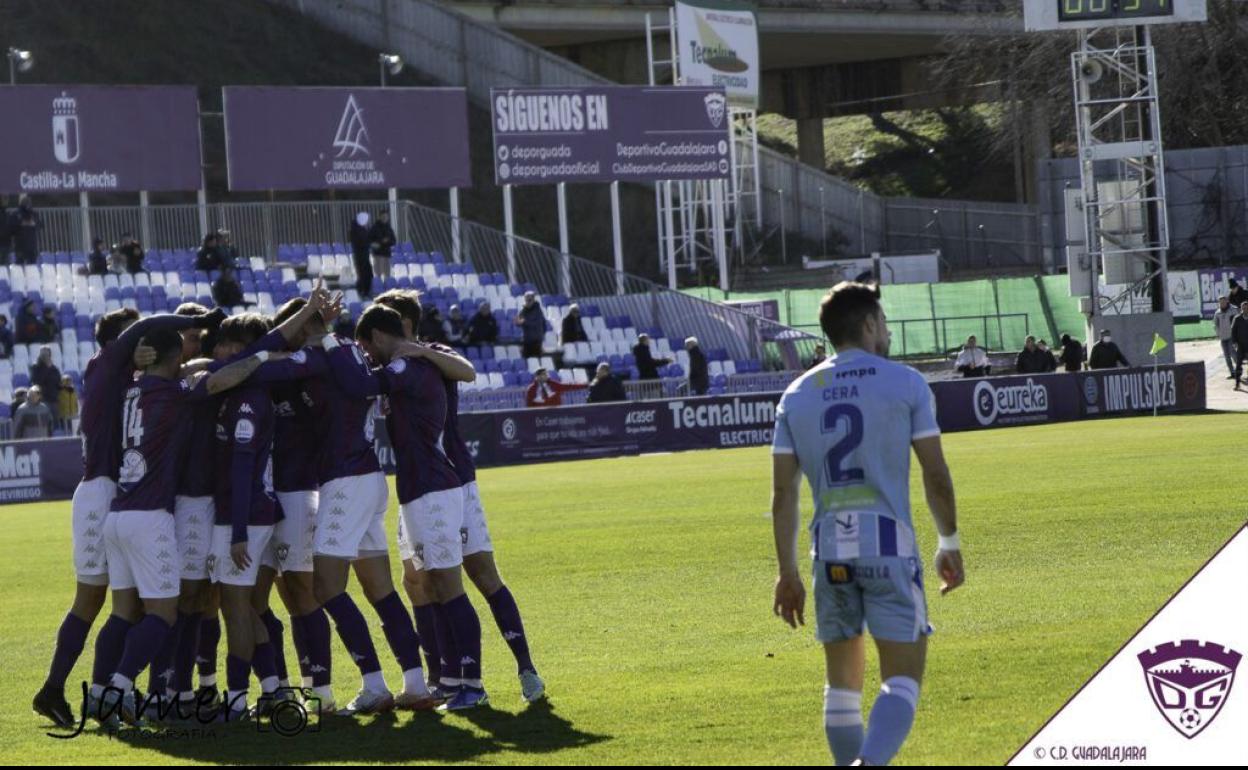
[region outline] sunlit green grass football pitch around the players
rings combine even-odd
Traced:
[[[1234,464],[1246,427],[1248,416],[1203,414],[947,436],[967,584],[940,598],[926,568],[936,634],[897,763],[1000,764],[1022,745],[1243,523]],[[480,484],[548,706],[522,708],[512,658],[470,593],[493,710],[327,718],[291,739],[236,726],[54,740],[30,698],[72,592],[69,503],[10,505],[0,508],[0,761],[827,764],[812,629],[791,631],[770,612],[766,448],[490,469]],[[396,507],[392,494],[392,527]],[[346,703],[358,675],[334,644]],[[867,703],[876,688],[869,673]]]

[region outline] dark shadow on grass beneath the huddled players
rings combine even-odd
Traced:
[[[475,725],[485,735],[468,729]],[[588,746],[609,735],[578,730],[543,701],[519,714],[483,708],[459,714],[382,714],[373,718],[327,715],[298,735],[283,736],[267,724],[155,728],[117,733],[87,729],[76,740],[117,741],[170,758],[221,764],[462,763],[493,754],[553,754]]]

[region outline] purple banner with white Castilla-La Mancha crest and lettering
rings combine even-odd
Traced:
[[[0,192],[198,190],[193,86],[0,87]]]

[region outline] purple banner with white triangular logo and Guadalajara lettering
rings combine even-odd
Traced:
[[[231,190],[466,187],[463,89],[227,86]]]

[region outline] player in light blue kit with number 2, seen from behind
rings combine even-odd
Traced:
[[[915,720],[927,651],[922,565],[910,522],[910,448],[922,467],[940,534],[941,594],[962,584],[953,482],[941,452],[931,391],[894,363],[874,286],[842,282],[819,309],[836,356],[789,386],[776,409],[771,515],[780,577],[775,613],[804,624],[797,569],[800,473],[815,495],[811,522],[816,636],[827,659],[824,726],[836,764],[885,765]],[[862,729],[870,629],[880,651],[880,696]]]

